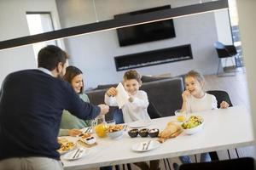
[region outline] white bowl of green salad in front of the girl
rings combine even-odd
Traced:
[[[204,119],[201,116],[190,116],[189,120],[183,122],[183,131],[187,134],[194,134],[201,131],[204,125]]]

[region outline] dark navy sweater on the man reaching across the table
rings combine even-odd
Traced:
[[[63,110],[92,119],[100,108],[84,103],[68,82],[39,70],[17,71],[0,90],[0,160],[45,156],[59,159],[57,136]]]

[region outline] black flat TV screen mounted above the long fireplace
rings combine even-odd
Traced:
[[[114,18],[127,17],[136,14],[145,14],[149,12],[154,12],[166,8],[171,8],[170,5],[148,8],[139,11],[134,11],[126,14],[116,14]],[[167,38],[175,37],[175,30],[173,25],[173,20],[161,20],[153,23],[138,25],[138,26],[129,26],[125,28],[117,29],[119,45],[127,46],[142,42],[152,42],[156,40],[162,40]]]

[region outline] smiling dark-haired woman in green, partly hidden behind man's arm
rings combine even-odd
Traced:
[[[79,97],[85,102],[90,102],[88,96],[84,94],[83,72],[75,66],[68,66],[63,79],[69,82],[74,91],[79,94]],[[90,120],[82,120],[73,116],[68,111],[64,110],[61,117],[61,129],[59,136],[76,136],[82,133],[79,129],[90,126]]]

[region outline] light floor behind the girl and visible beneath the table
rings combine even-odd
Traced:
[[[232,74],[232,73],[231,73]],[[245,71],[236,72],[236,76],[226,77],[229,75],[222,75],[218,77],[216,75],[207,75],[205,76],[206,85],[205,90],[224,90],[230,94],[230,99],[233,105],[245,105],[245,107],[249,110],[250,104],[248,99],[247,92],[247,78]],[[241,113],[242,114],[242,113]],[[245,132],[246,133],[246,132]],[[238,155],[240,157],[250,156],[254,157],[254,146],[248,146],[243,148],[238,148]],[[230,150],[231,158],[236,158],[236,151]],[[190,156],[192,161],[195,161],[195,156]],[[197,160],[200,160],[200,155],[196,155]],[[229,159],[227,150],[218,151],[218,157],[220,160]],[[168,159],[172,168],[172,163],[177,162],[180,164],[181,162],[178,158]],[[136,166],[131,164],[132,170],[137,170]],[[113,168],[114,169],[114,168]],[[121,166],[121,169],[122,166]],[[125,168],[127,169],[127,168]],[[160,169],[166,170],[165,164],[163,160],[160,160]],[[170,168],[167,168],[170,169]]]

